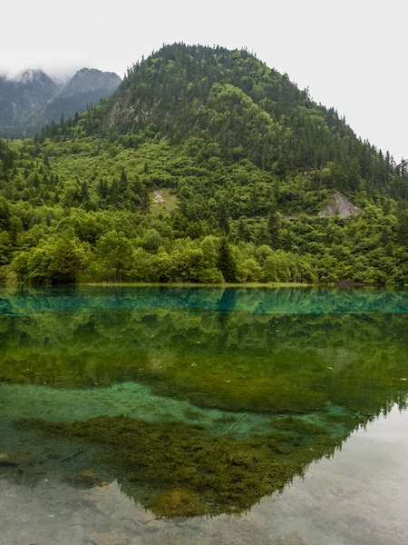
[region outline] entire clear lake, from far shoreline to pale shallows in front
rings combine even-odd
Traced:
[[[403,542],[407,311],[406,291],[2,289],[4,542]]]

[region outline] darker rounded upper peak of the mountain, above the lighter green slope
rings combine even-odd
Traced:
[[[230,163],[248,159],[280,176],[318,172],[319,187],[353,194],[363,183],[372,194],[405,191],[399,181],[389,185],[397,165],[388,152],[363,142],[334,108],[316,104],[287,74],[246,50],[164,46],[134,64],[94,115],[107,133],[149,127],[173,143],[216,144]]]

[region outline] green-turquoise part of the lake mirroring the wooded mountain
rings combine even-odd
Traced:
[[[1,288],[0,482],[245,518],[405,414],[407,312],[403,290]]]

